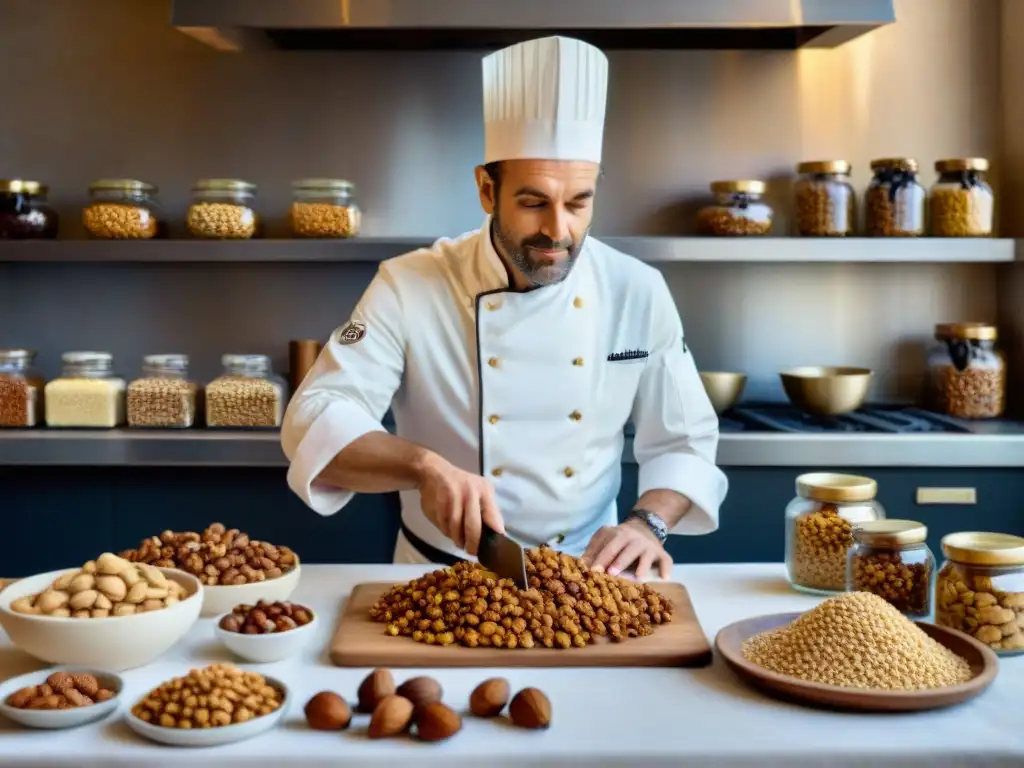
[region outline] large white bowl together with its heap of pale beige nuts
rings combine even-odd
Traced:
[[[199,618],[203,585],[106,552],[81,568],[20,579],[0,592],[0,626],[43,662],[121,672],[162,655]]]

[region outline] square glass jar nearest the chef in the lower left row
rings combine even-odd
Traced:
[[[225,354],[223,373],[206,387],[208,427],[280,427],[285,381],[264,354]]]

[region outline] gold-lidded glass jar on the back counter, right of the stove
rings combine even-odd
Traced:
[[[943,323],[929,355],[932,407],[958,419],[995,419],[1007,400],[1007,364],[987,323]]]

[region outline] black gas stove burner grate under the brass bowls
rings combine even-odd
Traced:
[[[814,416],[782,403],[733,409],[729,421],[740,429],[721,424],[722,431],[769,431],[792,433],[871,432],[890,434],[955,433],[970,430],[953,419],[912,407],[866,406],[842,416]]]

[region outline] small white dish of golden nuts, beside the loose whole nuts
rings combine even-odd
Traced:
[[[132,706],[125,721],[151,741],[217,746],[265,733],[290,705],[281,680],[214,664],[158,685]]]

